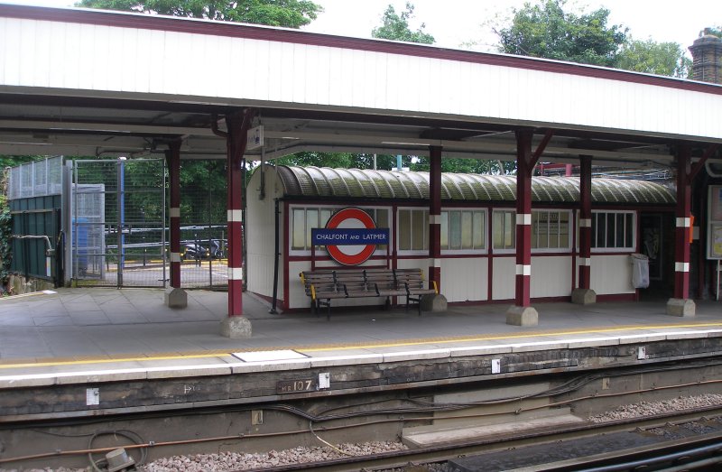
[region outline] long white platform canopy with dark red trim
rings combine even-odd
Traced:
[[[0,5],[0,153],[225,158],[227,114],[255,109],[264,147],[545,162],[669,164],[722,142],[722,87],[421,44],[160,15]],[[262,151],[263,149],[263,151]],[[264,155],[261,155],[264,153]],[[720,162],[719,153],[709,162]]]

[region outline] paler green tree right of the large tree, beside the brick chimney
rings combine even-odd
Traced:
[[[687,78],[692,61],[677,42],[653,42],[629,39],[616,60],[617,69],[634,70],[660,76]]]

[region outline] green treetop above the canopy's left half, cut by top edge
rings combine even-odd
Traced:
[[[90,8],[300,28],[323,11],[309,0],[81,0]]]

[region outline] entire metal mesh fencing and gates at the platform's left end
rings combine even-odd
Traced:
[[[60,283],[62,273],[68,273],[65,280],[80,286],[167,286],[169,189],[164,164],[162,159],[76,160],[70,169],[56,157],[11,169],[8,196],[16,232],[38,236],[18,238],[16,270],[49,278],[51,267]],[[224,289],[225,162],[183,162],[181,179],[181,286]],[[51,219],[37,223],[46,217]],[[57,243],[57,262],[48,262],[46,239],[53,248]],[[63,250],[69,252],[67,267]]]

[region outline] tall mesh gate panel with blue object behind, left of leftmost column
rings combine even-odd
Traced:
[[[164,161],[75,161],[72,188],[73,279],[165,286]]]

